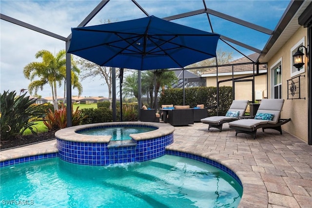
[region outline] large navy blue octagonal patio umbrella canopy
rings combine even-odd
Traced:
[[[100,66],[183,68],[216,56],[218,34],[150,16],[72,28],[68,53]]]

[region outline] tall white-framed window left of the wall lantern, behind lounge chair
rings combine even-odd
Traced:
[[[271,98],[282,98],[282,60],[278,60],[271,67]]]

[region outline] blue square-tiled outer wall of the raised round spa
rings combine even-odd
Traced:
[[[59,158],[81,165],[102,166],[115,163],[142,162],[166,153],[174,141],[173,133],[137,141],[136,146],[108,148],[107,143],[74,142],[57,139]]]

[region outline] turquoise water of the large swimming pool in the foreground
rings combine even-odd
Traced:
[[[105,167],[50,158],[3,167],[0,174],[2,207],[235,208],[242,195],[227,173],[173,155]]]

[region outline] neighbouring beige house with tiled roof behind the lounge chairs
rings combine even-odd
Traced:
[[[218,68],[210,68],[201,77],[206,78],[207,87],[216,86],[216,77],[218,77],[219,86],[234,87],[235,99],[248,99],[252,101],[253,76],[258,70],[259,76],[254,77],[254,95],[255,100],[261,100],[267,97],[267,64],[259,64],[257,68],[254,62],[258,57],[259,54],[254,53],[248,56],[248,58],[242,57],[229,64],[221,65]]]

